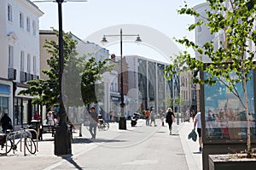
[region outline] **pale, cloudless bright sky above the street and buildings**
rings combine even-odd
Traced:
[[[186,2],[189,7],[193,7],[206,1],[187,0]],[[35,4],[44,12],[44,15],[39,18],[39,29],[49,30],[51,27],[58,29],[57,3],[45,2]],[[194,18],[177,14],[177,9],[183,4],[183,0],[88,0],[84,3],[68,2],[67,0],[67,3],[62,3],[62,27],[63,31],[71,31],[80,39],[88,40],[87,37],[110,26],[148,26],[156,31],[160,31],[170,38],[177,45],[177,48],[184,50],[185,48],[177,44],[173,37],[189,37],[189,39],[194,40],[195,33],[187,31],[189,23],[193,23]],[[125,33],[125,30],[123,32]],[[139,32],[139,34],[143,39],[143,31]],[[95,43],[102,46],[100,42],[102,35],[99,35],[98,39],[99,41]],[[115,43],[103,48],[108,48],[110,54],[119,54],[118,45],[118,43]],[[138,49],[137,46],[129,44],[126,44],[123,48],[126,50],[123,52],[124,55],[135,53],[138,55],[148,55],[149,58],[149,55],[152,55],[151,57],[153,58],[163,55],[157,47],[152,48],[145,44],[139,46]],[[190,50],[190,52],[192,51]]]

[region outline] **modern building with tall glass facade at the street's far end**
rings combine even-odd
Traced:
[[[125,59],[129,79],[126,112],[142,113],[145,109],[154,107],[159,113],[172,106],[168,101],[179,96],[179,78],[174,77],[175,81],[166,80],[164,71],[168,63],[137,55],[125,56]]]

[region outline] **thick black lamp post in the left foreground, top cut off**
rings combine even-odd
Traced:
[[[67,127],[67,114],[63,105],[62,95],[62,74],[63,74],[63,37],[62,37],[62,9],[61,4],[64,0],[56,0],[58,3],[58,18],[59,18],[59,123],[55,130],[55,155],[70,155],[72,154],[71,148],[71,133]]]

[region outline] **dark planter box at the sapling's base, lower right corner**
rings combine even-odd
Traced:
[[[239,158],[237,154],[209,155],[209,170],[255,169],[256,158]]]

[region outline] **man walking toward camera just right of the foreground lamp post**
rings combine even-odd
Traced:
[[[99,116],[95,111],[94,107],[90,108],[90,134],[91,134],[91,139],[96,139],[96,127],[99,122]]]

